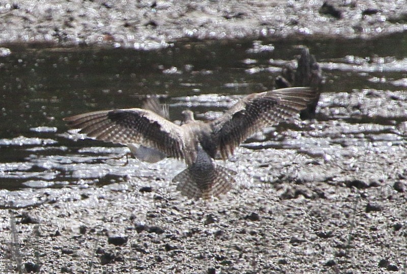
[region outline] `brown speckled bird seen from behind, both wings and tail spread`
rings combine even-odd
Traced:
[[[314,89],[290,87],[249,94],[213,121],[195,120],[183,111],[181,125],[141,108],[95,111],[64,118],[70,128],[105,142],[140,144],[187,167],[172,182],[188,198],[210,199],[227,193],[237,173],[217,162],[228,159],[247,138],[265,127],[288,121],[317,96]]]

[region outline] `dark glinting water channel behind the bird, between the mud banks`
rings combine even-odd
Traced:
[[[15,47],[0,57],[0,189],[155,178],[168,163],[151,167],[133,160],[122,166],[124,160],[114,158],[123,156],[126,148],[75,140],[62,119],[140,107],[147,94],[157,94],[169,104],[171,120],[179,119],[187,107],[198,117],[217,113],[240,95],[271,89],[279,67],[295,59],[301,45],[309,47],[326,77],[319,127],[308,141],[292,139],[278,145],[266,140],[266,145],[298,148],[315,157],[342,155],[335,144],[403,149],[407,33],[371,41],[184,41],[150,52]],[[327,129],[333,124],[337,131]],[[310,146],[301,150],[304,142]]]

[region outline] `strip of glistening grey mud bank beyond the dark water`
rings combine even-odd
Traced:
[[[407,29],[404,1],[15,1],[0,44],[168,47],[180,39],[374,38]]]

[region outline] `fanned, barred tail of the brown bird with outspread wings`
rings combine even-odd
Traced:
[[[227,193],[236,183],[232,177],[237,172],[217,165],[209,174],[200,174],[184,169],[172,182],[178,182],[177,190],[188,198],[209,199]]]

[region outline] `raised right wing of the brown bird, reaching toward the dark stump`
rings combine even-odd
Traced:
[[[305,109],[316,96],[305,87],[282,88],[253,93],[237,102],[211,123],[223,159],[261,128],[276,125]]]

